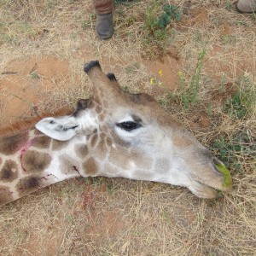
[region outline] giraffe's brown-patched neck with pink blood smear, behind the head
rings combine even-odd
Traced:
[[[35,129],[0,138],[0,205],[81,176],[81,157],[89,159],[86,141],[79,136],[60,142]]]

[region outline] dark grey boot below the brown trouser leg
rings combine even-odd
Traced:
[[[108,39],[113,35],[113,13],[96,15],[96,32],[99,38]]]

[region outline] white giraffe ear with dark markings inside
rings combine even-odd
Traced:
[[[45,118],[39,121],[35,126],[48,137],[59,141],[70,140],[79,131],[79,125],[75,123],[71,116]]]

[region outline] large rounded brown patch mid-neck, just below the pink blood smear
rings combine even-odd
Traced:
[[[51,156],[47,153],[41,153],[29,150],[23,154],[21,164],[26,172],[42,172],[44,171],[51,161]]]

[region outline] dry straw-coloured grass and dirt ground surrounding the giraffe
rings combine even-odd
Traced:
[[[108,41],[96,38],[91,2],[0,2],[0,124],[89,96],[83,64],[98,59],[125,88],[156,96],[228,162],[234,191],[204,201],[187,189],[160,183],[70,180],[0,209],[0,254],[255,255],[256,112],[255,96],[248,97],[256,85],[255,15],[237,14],[233,1],[172,1],[183,17],[166,27],[170,40],[159,52],[155,44],[144,44],[144,14],[153,0],[118,4],[115,33]],[[188,88],[203,47],[207,54],[197,101],[185,109],[182,91],[170,92],[149,70],[164,55],[183,73]],[[178,80],[177,73],[168,79]],[[239,109],[224,111],[229,96],[247,90],[242,118],[236,117]],[[221,138],[223,143],[216,144]]]

